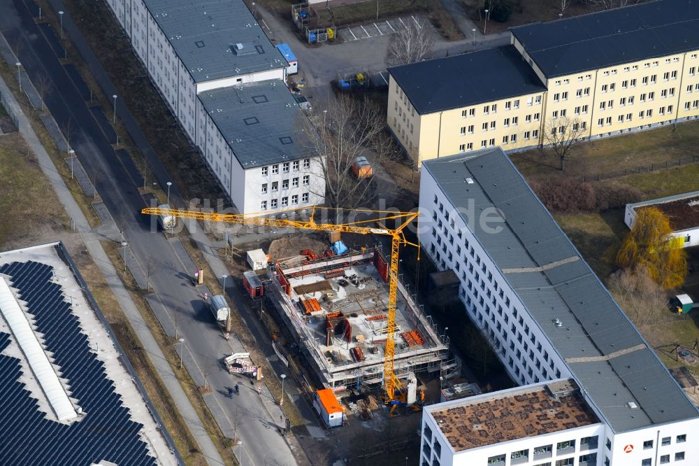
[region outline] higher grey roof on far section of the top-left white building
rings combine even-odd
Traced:
[[[287,66],[242,0],[145,0],[197,83]],[[233,52],[235,44],[243,48]]]

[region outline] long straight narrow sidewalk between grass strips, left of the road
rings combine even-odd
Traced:
[[[107,254],[104,252],[104,249],[99,242],[99,237],[92,232],[89,224],[87,223],[87,219],[80,210],[80,206],[78,206],[78,203],[75,202],[75,199],[73,199],[73,195],[71,195],[66,183],[64,183],[63,178],[57,171],[48,153],[46,153],[46,150],[41,145],[41,141],[39,141],[38,136],[36,136],[34,129],[31,128],[29,120],[27,120],[27,116],[24,115],[24,112],[17,103],[15,96],[12,94],[2,78],[0,78],[0,92],[3,94],[3,97],[5,97],[6,103],[8,106],[10,106],[13,113],[17,115],[20,132],[27,141],[27,144],[29,144],[31,147],[31,150],[36,155],[41,171],[43,171],[46,178],[48,178],[50,181],[57,197],[63,204],[64,209],[66,209],[66,213],[68,213],[75,223],[75,229],[80,234],[83,243],[85,243],[85,247],[94,259],[94,262],[101,270],[110,290],[113,292],[117,302],[119,302],[122,310],[124,311],[124,315],[129,319],[131,327],[134,328],[140,343],[143,345],[144,351],[147,353],[154,367],[160,374],[161,379],[168,388],[168,391],[175,401],[175,404],[178,405],[182,418],[185,419],[189,430],[199,443],[201,452],[206,457],[210,465],[224,464],[223,458],[221,458],[219,452],[209,438],[208,432],[206,432],[206,429],[199,420],[199,416],[197,416],[196,411],[194,411],[194,407],[192,407],[192,404],[189,402],[189,398],[187,398],[185,391],[182,390],[180,381],[178,381],[177,377],[175,376],[172,368],[165,358],[165,355],[162,353],[162,351],[160,351],[158,344],[150,333],[150,330],[148,330],[143,317],[140,315],[136,304],[131,299],[131,295],[129,295],[129,292],[126,290],[126,288],[124,288],[124,284],[119,278],[117,271],[115,270],[112,262],[109,260]]]

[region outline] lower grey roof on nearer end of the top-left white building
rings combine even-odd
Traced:
[[[199,100],[243,169],[312,155],[306,118],[280,80],[201,92]]]

